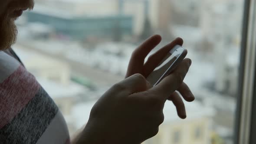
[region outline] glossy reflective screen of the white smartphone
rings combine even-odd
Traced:
[[[151,85],[157,85],[159,80],[163,79],[162,77],[166,74],[166,72],[171,72],[171,68],[173,68],[174,63],[181,56],[183,51],[184,48],[180,46],[179,48],[172,49],[167,53],[167,56],[164,57],[160,64],[148,76],[147,80],[151,83]]]

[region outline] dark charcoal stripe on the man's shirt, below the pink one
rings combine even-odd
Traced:
[[[58,108],[53,100],[40,88],[26,108],[0,129],[0,143],[35,144],[57,112]]]

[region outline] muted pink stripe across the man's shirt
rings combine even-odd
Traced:
[[[0,128],[19,114],[39,88],[35,77],[21,65],[0,84]]]

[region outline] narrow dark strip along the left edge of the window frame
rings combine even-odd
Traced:
[[[245,68],[245,55],[248,37],[248,24],[249,24],[249,7],[250,0],[245,0],[243,10],[243,28],[242,28],[242,41],[240,50],[240,66],[239,66],[239,79],[237,88],[237,102],[236,102],[236,115],[235,115],[235,128],[233,134],[234,144],[239,144],[240,140],[240,115],[243,95],[243,80],[244,80],[244,68]]]

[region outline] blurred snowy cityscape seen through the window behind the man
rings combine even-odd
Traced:
[[[232,144],[242,16],[243,0],[36,0],[16,21],[13,48],[73,135],[124,79],[136,47],[153,34],[163,37],[153,52],[182,37],[196,101],[185,102],[186,120],[168,101],[159,134],[144,144]]]

